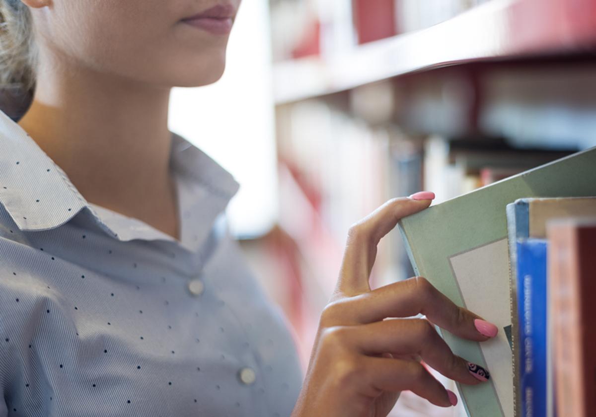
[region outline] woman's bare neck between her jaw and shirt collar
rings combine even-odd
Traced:
[[[178,238],[169,174],[170,89],[66,67],[64,61],[40,66],[32,105],[18,125],[86,200]]]

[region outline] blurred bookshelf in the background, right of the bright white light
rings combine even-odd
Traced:
[[[357,1],[270,0],[279,217],[260,240],[291,270],[268,281],[297,289],[281,304],[303,365],[353,222],[392,197],[428,189],[439,203],[596,145],[596,2],[395,0],[395,33],[359,44]],[[412,275],[393,232],[371,286]]]

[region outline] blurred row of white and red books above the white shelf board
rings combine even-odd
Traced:
[[[333,55],[425,29],[489,0],[271,0],[274,61]]]

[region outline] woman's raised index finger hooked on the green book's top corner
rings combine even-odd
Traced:
[[[347,236],[337,292],[355,295],[370,291],[368,278],[377,257],[378,242],[395,228],[399,219],[429,207],[433,198],[432,192],[392,198],[364,219],[354,223]]]

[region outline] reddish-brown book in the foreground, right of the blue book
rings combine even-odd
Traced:
[[[596,213],[595,213],[596,215]],[[547,226],[548,297],[558,416],[596,415],[596,217]]]

